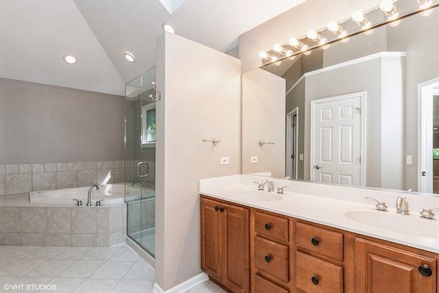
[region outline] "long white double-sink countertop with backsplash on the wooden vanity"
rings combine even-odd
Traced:
[[[276,188],[288,186],[284,194],[276,194],[276,192],[257,190],[257,184],[253,182],[261,183],[264,179],[252,175],[202,179],[199,191],[206,196],[248,207],[439,253],[439,220],[419,217],[419,211],[423,207],[428,209],[439,207],[439,198],[404,192],[273,179]],[[259,196],[259,193],[262,196]],[[389,207],[388,211],[377,211],[374,202],[364,200],[366,196],[385,201]],[[410,215],[396,213],[394,205],[398,196],[407,198]],[[259,197],[267,200],[260,200]],[[351,220],[346,213],[359,215],[360,219]]]

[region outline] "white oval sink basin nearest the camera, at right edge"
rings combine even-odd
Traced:
[[[346,218],[397,233],[420,237],[439,238],[439,223],[437,220],[414,218],[389,212],[349,211]]]

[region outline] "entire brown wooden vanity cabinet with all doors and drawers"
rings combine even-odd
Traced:
[[[228,292],[439,293],[439,254],[201,197],[202,270]]]

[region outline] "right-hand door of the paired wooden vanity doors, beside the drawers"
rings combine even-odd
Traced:
[[[250,287],[249,211],[223,204],[222,283],[233,292],[248,292]]]

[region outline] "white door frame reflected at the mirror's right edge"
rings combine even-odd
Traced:
[[[433,95],[439,78],[418,84],[418,191],[433,193]],[[426,176],[423,176],[426,172]]]

